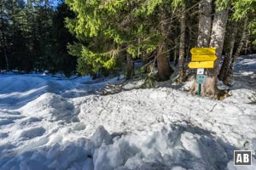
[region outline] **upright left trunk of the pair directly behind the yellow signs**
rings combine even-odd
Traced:
[[[199,3],[200,16],[198,25],[197,47],[209,47],[212,31],[212,0],[201,0]],[[197,83],[193,83],[190,88],[192,94],[197,93]]]

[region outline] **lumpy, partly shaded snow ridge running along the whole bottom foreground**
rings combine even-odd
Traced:
[[[211,132],[187,123],[160,126],[153,132],[110,135],[98,127],[90,139],[45,145],[5,157],[1,169],[234,169],[236,148]],[[230,162],[230,163],[229,163]],[[256,160],[253,158],[255,168]]]

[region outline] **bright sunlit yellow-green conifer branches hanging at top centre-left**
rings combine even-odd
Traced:
[[[164,41],[159,13],[171,13],[172,1],[67,0],[77,15],[67,28],[79,42],[69,44],[78,56],[79,72],[117,69],[125,54],[133,59],[153,52]],[[166,10],[160,10],[165,8]]]

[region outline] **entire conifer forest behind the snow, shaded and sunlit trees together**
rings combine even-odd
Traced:
[[[190,49],[211,47],[202,94],[215,98],[217,79],[229,85],[236,59],[256,51],[255,18],[254,0],[1,0],[0,69],[166,81],[174,65],[184,82]]]

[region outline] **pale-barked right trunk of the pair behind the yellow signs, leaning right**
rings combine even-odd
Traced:
[[[207,69],[207,81],[202,86],[201,94],[211,96],[214,99],[218,98],[218,88],[216,87],[219,62],[224,45],[224,36],[226,30],[226,24],[228,20],[228,9],[218,11],[216,7],[216,14],[212,21],[212,34],[210,47],[216,48],[217,59],[214,62],[212,69]]]

